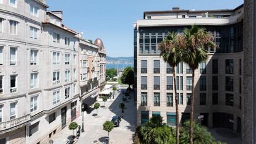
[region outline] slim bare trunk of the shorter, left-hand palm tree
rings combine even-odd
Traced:
[[[173,66],[173,81],[174,81],[174,95],[175,95],[175,106],[176,106],[176,143],[179,144],[179,103],[178,103],[177,88],[176,88],[175,66]]]

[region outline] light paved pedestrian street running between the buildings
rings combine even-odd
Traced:
[[[85,132],[81,133],[81,136],[78,140],[78,144],[87,144],[87,143],[104,143],[105,137],[108,136],[108,133],[103,130],[103,123],[105,121],[111,121],[111,118],[114,115],[120,115],[121,109],[119,109],[119,103],[122,101],[122,94],[119,93],[116,96],[115,100],[106,102],[106,108],[98,109],[98,115],[100,117],[94,117],[93,114],[96,113],[96,110],[90,112],[90,114],[85,114],[84,124]],[[104,102],[99,102],[102,106]],[[119,127],[115,127],[112,132],[109,133],[110,142],[113,144],[131,144],[132,135],[135,132],[136,124],[136,108],[134,106],[133,96],[126,104],[126,109],[122,114],[124,117],[120,123]],[[82,117],[79,117],[75,120],[80,125],[82,125]],[[69,137],[71,131],[67,129],[62,130],[58,135],[54,136],[54,144],[66,143],[67,137]]]

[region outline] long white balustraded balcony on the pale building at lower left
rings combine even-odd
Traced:
[[[10,121],[6,121],[6,122],[0,122],[0,132],[2,130],[7,130],[7,129],[11,129],[13,127],[17,127],[19,125],[25,125],[25,122],[30,121],[30,114],[27,114],[25,116],[22,117],[18,117],[16,119],[12,119]]]

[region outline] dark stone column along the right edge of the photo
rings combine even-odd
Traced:
[[[244,1],[244,103],[242,138],[243,143],[255,143],[254,141],[254,117],[255,117],[255,79],[254,79],[254,56],[255,56],[255,24],[254,24],[254,0]]]

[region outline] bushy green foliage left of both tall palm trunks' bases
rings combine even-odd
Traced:
[[[174,144],[175,138],[171,128],[163,124],[163,117],[154,116],[147,124],[143,124],[139,130],[141,143]]]

